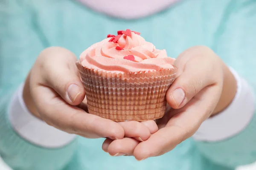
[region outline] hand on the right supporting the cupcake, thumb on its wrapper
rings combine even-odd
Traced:
[[[177,78],[166,94],[171,107],[157,120],[159,130],[144,142],[106,139],[103,150],[111,155],[125,153],[137,160],[163,155],[191,137],[209,116],[224,110],[236,95],[233,74],[207,47],[189,48],[177,57],[175,66]]]

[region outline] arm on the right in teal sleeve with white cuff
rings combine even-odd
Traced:
[[[231,105],[204,122],[194,136],[204,156],[230,167],[256,160],[255,8],[253,1],[230,3],[232,10],[214,31],[212,48],[238,73],[238,91]]]

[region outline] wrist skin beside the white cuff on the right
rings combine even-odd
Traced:
[[[221,97],[216,105],[212,116],[220,113],[221,111],[225,110],[233,99],[236,96],[237,91],[237,81],[233,73],[227,67],[227,65],[223,64],[223,86],[222,86],[222,93]]]

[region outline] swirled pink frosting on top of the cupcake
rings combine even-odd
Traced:
[[[80,55],[80,62],[86,68],[100,69],[117,72],[139,72],[172,69],[174,58],[167,56],[165,50],[158,50],[155,46],[146,42],[143,37],[134,32],[131,36],[122,34],[119,40],[109,42],[106,38],[87,48]],[[116,50],[116,46],[124,50]],[[133,55],[135,61],[124,59]]]

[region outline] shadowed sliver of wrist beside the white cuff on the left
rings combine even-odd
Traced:
[[[29,112],[32,113],[37,118],[41,119],[30,93],[29,82],[30,82],[30,73],[28,74],[28,77],[26,78],[26,81],[24,84],[23,94],[22,94],[23,100]]]

